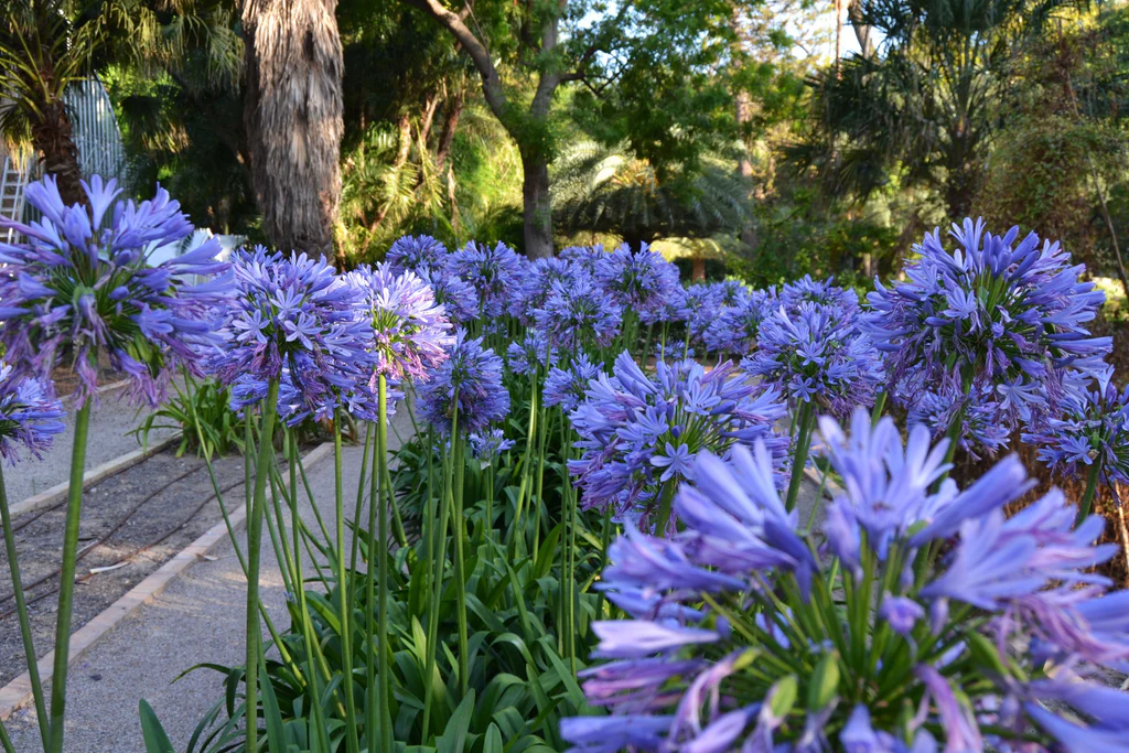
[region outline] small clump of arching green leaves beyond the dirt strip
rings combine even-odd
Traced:
[[[154,429],[180,429],[176,456],[189,449],[196,456],[212,458],[231,449],[243,452],[244,418],[229,406],[230,394],[212,379],[196,380],[184,374],[183,386],[173,382],[176,394],[141,422],[133,435],[146,447]]]

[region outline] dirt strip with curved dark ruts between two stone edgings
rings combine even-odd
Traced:
[[[243,504],[243,458],[212,463],[229,511]],[[65,501],[12,522],[36,650],[54,641]],[[78,630],[221,520],[205,464],[174,449],[87,489],[72,629]],[[100,572],[91,569],[114,567]],[[7,555],[0,551],[0,685],[26,668]]]

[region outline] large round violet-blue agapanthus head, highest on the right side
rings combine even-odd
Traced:
[[[889,353],[891,394],[911,406],[956,375],[962,393],[994,393],[997,421],[1010,427],[1053,412],[1068,373],[1100,369],[1110,349],[1109,338],[1085,327],[1104,295],[1078,280],[1084,265],[1034,233],[1016,243],[1018,228],[996,236],[966,219],[949,235],[956,251],[944,248],[939,231],[926,235],[908,281],[877,283],[868,296],[867,326]]]

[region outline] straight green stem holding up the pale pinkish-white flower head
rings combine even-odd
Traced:
[[[376,465],[374,473],[379,475],[379,491],[384,492],[373,500],[377,508],[377,577],[379,578],[379,601],[377,602],[377,685],[376,704],[380,715],[380,753],[392,753],[392,683],[388,665],[388,508],[395,508],[392,485],[388,482],[388,383],[382,374],[377,378],[377,423],[376,423]],[[369,572],[373,562],[369,560]],[[369,602],[371,604],[371,602]],[[371,606],[369,607],[371,612]],[[371,664],[371,662],[369,662]]]

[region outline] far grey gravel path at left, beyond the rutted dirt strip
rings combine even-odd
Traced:
[[[67,430],[55,437],[54,446],[43,454],[43,459],[25,459],[14,469],[5,470],[5,484],[8,491],[8,502],[21,502],[44,489],[67,481],[70,474],[71,446],[75,444],[73,405],[68,400],[68,415],[64,419]],[[148,410],[138,413],[138,409],[125,400],[125,389],[119,387],[98,395],[98,405],[90,414],[90,434],[86,450],[86,470],[102,465],[120,455],[138,449],[141,445],[133,437],[133,431],[149,414]],[[149,444],[154,445],[174,434],[172,429],[154,429],[149,435]]]

